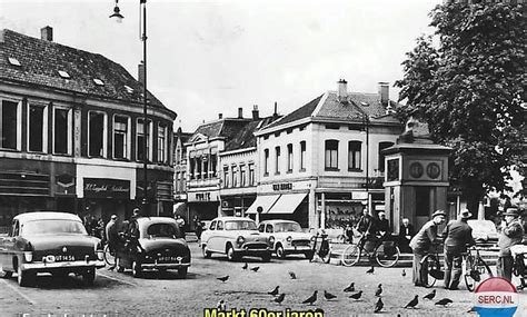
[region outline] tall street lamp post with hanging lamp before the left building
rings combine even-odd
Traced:
[[[148,178],[147,178],[147,158],[148,158],[148,152],[147,152],[147,122],[148,122],[148,117],[147,117],[147,0],[139,0],[139,9],[141,12],[142,8],[142,17],[139,17],[139,20],[142,20],[142,34],[141,34],[141,41],[142,41],[142,169],[143,169],[143,190],[142,190],[142,215],[147,216],[147,190],[148,190]],[[113,13],[110,16],[110,18],[116,19],[117,22],[121,22],[122,19],[125,18],[120,13],[119,9],[119,0],[116,0],[116,7],[113,8]]]

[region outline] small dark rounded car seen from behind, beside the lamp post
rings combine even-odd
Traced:
[[[185,278],[190,267],[190,249],[176,220],[141,217],[136,221],[138,236],[125,235],[118,244],[118,271],[129,268],[133,277],[140,277],[145,270],[177,269],[178,275]]]

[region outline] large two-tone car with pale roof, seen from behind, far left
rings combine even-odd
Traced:
[[[73,214],[34,211],[18,215],[7,237],[0,238],[0,270],[18,275],[20,286],[34,283],[38,273],[81,275],[86,284],[105,266],[98,238],[91,237]]]

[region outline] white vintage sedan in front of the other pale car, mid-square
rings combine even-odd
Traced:
[[[229,260],[242,256],[271,259],[274,238],[265,237],[256,227],[255,220],[242,217],[218,217],[201,234],[201,250],[209,258],[212,252],[225,254]]]

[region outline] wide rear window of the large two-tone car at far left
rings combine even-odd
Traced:
[[[21,235],[88,235],[82,222],[66,219],[32,220],[22,225]]]

